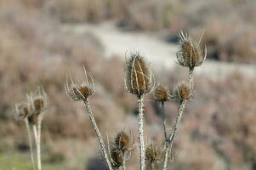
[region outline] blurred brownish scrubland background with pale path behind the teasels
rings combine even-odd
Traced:
[[[65,95],[66,74],[94,76],[91,97],[106,139],[122,129],[137,139],[136,98],[125,93],[125,54],[139,51],[157,82],[174,88],[187,70],[177,65],[177,34],[202,32],[206,62],[174,142],[175,170],[256,169],[255,0],[0,0],[0,169],[31,169],[26,128],[12,107],[42,83],[50,100],[43,120],[44,170],[104,169],[81,103]],[[177,105],[166,105],[168,126]],[[162,144],[162,120],[145,101],[145,142]],[[138,150],[129,161],[138,165]]]

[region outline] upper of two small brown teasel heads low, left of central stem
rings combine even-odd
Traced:
[[[118,150],[125,152],[131,148],[131,140],[127,133],[121,131],[115,138],[115,146]]]

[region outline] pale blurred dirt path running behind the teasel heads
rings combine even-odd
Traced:
[[[175,65],[177,46],[162,41],[154,34],[119,31],[111,24],[63,25],[62,30],[78,35],[93,33],[105,46],[105,57],[110,57],[113,54],[123,57],[126,52],[136,50],[145,55],[151,63],[154,63],[152,67],[155,70],[162,68],[172,70],[177,67]],[[196,69],[196,74],[219,79],[233,71],[240,71],[247,77],[255,77],[256,65],[230,64],[207,59],[202,67]]]

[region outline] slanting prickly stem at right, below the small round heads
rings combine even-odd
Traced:
[[[173,131],[172,131],[172,133],[171,133],[171,135],[168,139],[168,142],[165,146],[166,148],[165,148],[165,157],[164,157],[164,163],[163,163],[163,170],[167,170],[168,157],[169,157],[169,155],[171,153],[171,150],[172,150],[172,145],[173,145],[173,142],[174,142],[174,136],[175,136],[179,121],[180,121],[180,119],[183,115],[183,112],[185,110],[186,102],[187,102],[187,100],[182,100],[180,105],[179,105],[179,111],[178,111],[176,121],[175,121],[174,126],[173,126]]]

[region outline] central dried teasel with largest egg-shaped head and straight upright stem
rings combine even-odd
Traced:
[[[139,53],[131,54],[125,65],[125,87],[138,98],[139,123],[139,169],[145,169],[145,144],[143,132],[144,94],[154,87],[154,77],[149,64]]]

